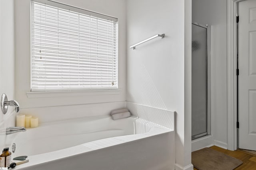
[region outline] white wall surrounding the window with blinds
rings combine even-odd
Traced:
[[[119,102],[126,100],[126,7],[125,0],[58,0],[71,6],[114,16],[119,25],[119,74],[120,94],[56,96],[28,98],[30,92],[30,0],[15,1],[15,97],[21,109]],[[118,8],[116,8],[118,7]]]

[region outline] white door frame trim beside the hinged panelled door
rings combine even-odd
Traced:
[[[245,0],[227,0],[227,85],[228,85],[228,150],[238,148],[237,122],[237,29],[238,2]]]

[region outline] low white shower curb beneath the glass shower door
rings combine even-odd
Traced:
[[[205,147],[212,147],[212,146],[214,146],[213,136],[208,135],[206,137],[201,137],[199,139],[193,140],[191,151],[194,152],[196,150],[199,150]]]

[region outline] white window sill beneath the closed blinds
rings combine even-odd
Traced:
[[[68,96],[97,96],[120,94],[121,90],[88,90],[88,91],[55,91],[55,92],[26,92],[28,98],[51,98]]]

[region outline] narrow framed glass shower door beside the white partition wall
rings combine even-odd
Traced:
[[[192,23],[192,140],[210,134],[210,27]]]

